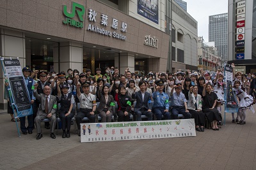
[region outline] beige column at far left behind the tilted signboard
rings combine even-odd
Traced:
[[[26,47],[25,34],[22,32],[0,29],[0,56],[2,57],[19,57],[20,66],[26,65]],[[4,99],[4,74],[0,69],[0,110],[7,109],[6,100]]]

